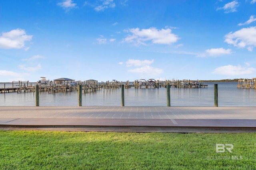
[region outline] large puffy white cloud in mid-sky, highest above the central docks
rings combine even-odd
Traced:
[[[158,30],[154,27],[149,29],[139,29],[139,28],[132,28],[126,29],[125,32],[132,33],[132,35],[127,35],[126,38],[123,39],[123,42],[127,43],[135,43],[135,44],[143,44],[146,41],[151,41],[154,44],[172,44],[176,43],[178,39],[178,35],[172,33],[172,30],[161,29]]]

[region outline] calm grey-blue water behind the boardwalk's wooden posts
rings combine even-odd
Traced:
[[[171,88],[171,106],[214,106],[214,84],[218,84],[218,106],[256,106],[256,90],[238,89],[237,82],[206,82],[208,88]],[[0,87],[4,85],[0,83]],[[12,84],[6,84],[6,87]],[[166,88],[125,89],[125,106],[167,106]],[[40,94],[40,106],[77,106],[78,93]],[[0,106],[35,106],[35,94],[0,94]],[[121,106],[121,89],[82,95],[82,106]]]

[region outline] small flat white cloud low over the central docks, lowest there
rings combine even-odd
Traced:
[[[130,69],[130,70],[128,70],[128,72],[146,73],[150,76],[157,76],[159,74],[162,74],[164,71],[162,69],[154,68],[152,66],[146,65],[146,66],[142,66],[140,68]]]

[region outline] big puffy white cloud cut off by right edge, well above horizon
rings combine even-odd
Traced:
[[[225,35],[224,42],[239,48],[248,46],[248,50],[252,51],[252,46],[256,47],[256,27],[243,28],[234,33],[230,32]]]

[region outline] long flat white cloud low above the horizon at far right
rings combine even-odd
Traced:
[[[246,65],[248,66],[248,64]],[[212,73],[228,75],[228,76],[237,76],[237,75],[243,75],[243,74],[252,74],[255,70],[256,69],[253,67],[242,67],[240,65],[238,66],[227,65],[227,66],[220,66],[216,68]]]

